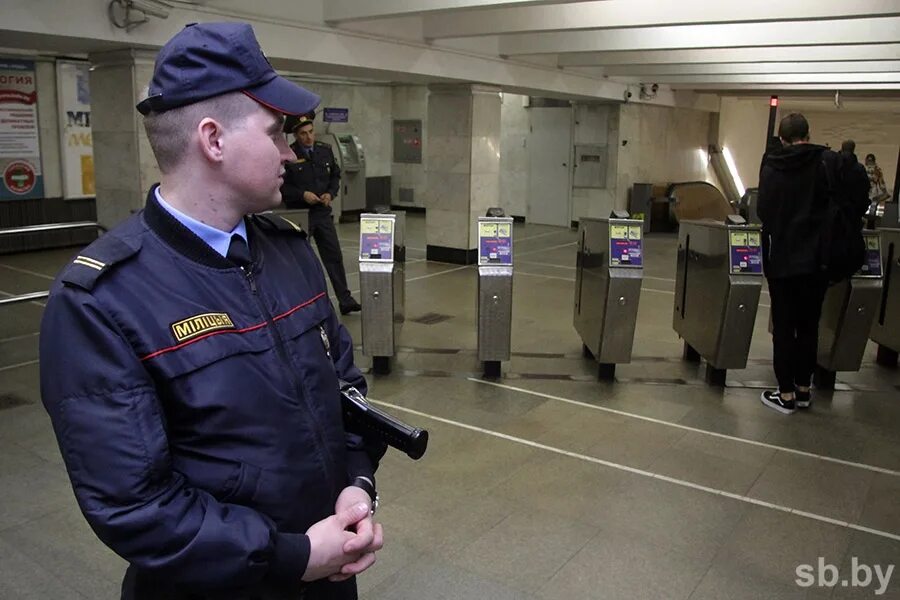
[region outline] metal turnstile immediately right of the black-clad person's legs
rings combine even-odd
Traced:
[[[858,371],[869,331],[881,303],[881,242],[864,231],[866,261],[856,275],[828,288],[819,319],[819,343],[813,382],[834,389],[837,371]]]

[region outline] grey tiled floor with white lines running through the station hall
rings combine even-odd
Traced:
[[[711,388],[671,328],[675,238],[653,235],[635,360],[597,382],[572,327],[575,232],[517,225],[514,356],[491,385],[475,269],[426,262],[424,219],[408,230],[408,319],[371,397],[431,445],[379,470],[387,544],[364,598],[876,597],[877,579],[796,582],[820,560],[848,581],[853,564],[900,563],[900,373],[871,344],[859,373],[839,374],[848,391],[808,413],[767,410],[764,292],[748,368]],[[340,226],[354,289],[356,232]],[[73,252],[0,256],[0,296],[46,289]],[[450,318],[412,322],[427,313]],[[0,307],[0,599],[118,598],[124,563],[81,517],[40,406],[40,316],[39,303]],[[359,316],[344,322],[359,343]],[[892,575],[878,597],[900,598]]]

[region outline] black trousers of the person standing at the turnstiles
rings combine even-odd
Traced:
[[[821,275],[769,279],[775,377],[782,393],[809,387],[816,368],[819,317],[827,280]]]

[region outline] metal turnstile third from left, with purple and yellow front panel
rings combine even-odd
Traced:
[[[615,378],[616,364],[631,362],[644,273],[643,225],[625,212],[579,222],[574,324],[585,356],[600,363],[600,379]]]

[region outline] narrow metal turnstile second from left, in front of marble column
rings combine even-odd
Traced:
[[[491,378],[510,357],[512,224],[510,217],[478,217],[478,360]]]

